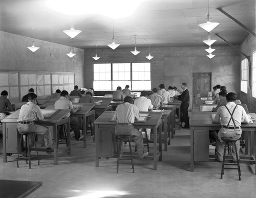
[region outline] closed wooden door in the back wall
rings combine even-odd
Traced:
[[[211,73],[193,73],[193,104],[198,97],[207,97],[211,91]]]

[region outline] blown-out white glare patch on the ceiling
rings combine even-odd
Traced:
[[[145,0],[48,0],[47,6],[63,14],[102,14],[112,18],[130,16]]]

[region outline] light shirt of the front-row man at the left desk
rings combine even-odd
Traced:
[[[20,108],[19,116],[17,121],[34,121],[34,120],[43,120],[44,115],[41,112],[41,109],[38,105],[28,102]]]

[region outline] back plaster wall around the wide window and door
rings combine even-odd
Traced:
[[[239,48],[239,45],[237,46]],[[168,86],[176,86],[186,82],[190,92],[190,103],[192,102],[193,72],[211,72],[211,85],[225,85],[228,91],[240,94],[240,55],[228,45],[214,46],[216,57],[206,57],[206,46],[187,47],[151,47],[151,61],[147,60],[148,48],[140,48],[141,51],[134,56],[130,51],[134,48],[98,49],[97,56],[101,57],[95,61],[95,50],[84,51],[84,85],[93,86],[93,64],[94,63],[123,63],[123,62],[151,62],[152,88],[159,87],[161,83]],[[192,103],[191,103],[192,104]],[[192,105],[189,107],[192,108]]]

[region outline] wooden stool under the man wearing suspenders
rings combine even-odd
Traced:
[[[222,161],[222,168],[221,168],[221,179],[222,179],[222,176],[224,175],[224,169],[237,169],[238,170],[238,176],[239,176],[239,181],[241,180],[241,170],[240,170],[240,164],[239,164],[239,159],[238,159],[238,151],[237,151],[237,141],[240,139],[240,138],[226,138],[226,137],[222,137],[221,138],[225,145],[224,145],[224,155],[223,155],[223,161]],[[230,143],[231,145],[234,145],[234,150],[236,151],[236,156],[237,156],[237,163],[236,164],[233,164],[233,163],[225,163],[225,156],[226,156],[226,149],[227,149],[227,143]],[[238,167],[237,168],[225,168],[224,165],[237,165]]]

